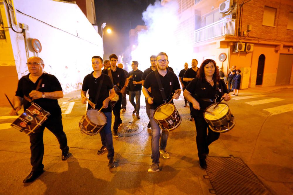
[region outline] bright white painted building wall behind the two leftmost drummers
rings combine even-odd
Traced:
[[[92,71],[91,57],[103,56],[102,38],[81,9],[76,4],[52,0],[14,0],[14,6],[26,14],[16,11],[17,22],[29,26],[28,40],[36,38],[42,44],[38,56],[44,60],[45,71],[58,78],[64,93],[80,89],[85,75]],[[23,34],[9,32],[21,78],[28,74]],[[29,48],[30,57],[36,56]]]

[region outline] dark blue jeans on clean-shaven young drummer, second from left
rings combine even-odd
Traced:
[[[110,159],[114,157],[113,138],[111,132],[112,112],[105,112],[104,114],[107,117],[107,124],[100,131],[100,136],[103,146],[106,146],[108,149],[107,158]]]

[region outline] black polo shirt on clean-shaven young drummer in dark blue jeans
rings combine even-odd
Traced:
[[[98,101],[96,100],[97,91],[99,88],[99,84],[102,81],[103,77],[103,83],[101,86],[101,90],[99,93]],[[84,82],[82,83],[82,89],[84,92],[88,90],[89,100],[91,100],[93,103],[97,103],[96,109],[100,110],[103,106],[103,101],[109,97],[109,90],[113,89],[113,84],[111,82],[111,79],[108,75],[102,74],[98,78],[93,77],[93,72],[91,74],[86,75],[84,77]],[[91,108],[90,105],[88,105],[89,108]],[[103,108],[101,110],[103,113],[105,112],[112,112],[110,103],[108,105],[108,108]]]

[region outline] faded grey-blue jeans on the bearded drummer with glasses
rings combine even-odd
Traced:
[[[153,163],[160,163],[160,149],[166,149],[168,134],[162,131],[161,143],[159,143],[161,128],[154,120],[154,111],[154,109],[150,109],[149,114],[151,122],[151,159]]]

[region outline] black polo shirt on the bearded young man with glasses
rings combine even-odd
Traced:
[[[149,87],[151,87],[151,97],[154,97],[154,103],[150,105],[151,109],[156,109],[158,106],[165,103],[163,101],[160,87],[155,76],[155,72],[157,71],[158,70],[149,73],[146,77],[146,80],[144,81],[144,88],[148,89]],[[169,70],[164,77],[159,74],[159,78],[163,85],[166,98],[168,98],[167,101],[169,101],[173,96],[175,90],[180,89],[178,78],[174,73]],[[173,103],[173,100],[171,102]]]

